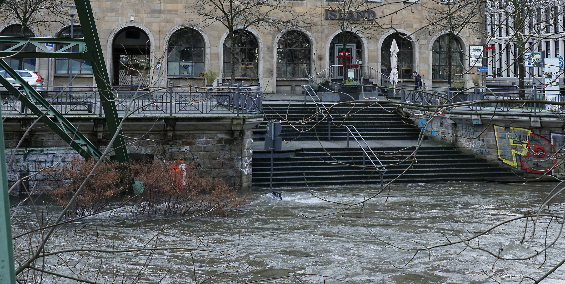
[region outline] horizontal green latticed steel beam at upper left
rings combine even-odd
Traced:
[[[69,58],[92,60],[91,53],[86,49],[84,38],[60,38],[60,37],[0,37],[0,43],[16,43],[14,46],[5,50],[0,50],[0,57],[10,56],[12,58]],[[45,47],[45,43],[55,43],[67,45],[62,49],[50,51]],[[23,47],[33,45],[40,51],[20,51]],[[69,52],[77,46],[76,53]]]

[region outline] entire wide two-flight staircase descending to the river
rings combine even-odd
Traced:
[[[298,121],[314,113],[313,104],[264,104],[264,114],[267,119],[277,118],[280,115],[288,117],[289,121]],[[446,182],[446,181],[483,181],[484,178],[515,177],[511,168],[502,167],[497,163],[489,163],[484,159],[477,159],[474,155],[463,154],[453,146],[439,145],[425,141],[419,148],[416,161],[411,166],[413,156],[410,156],[416,145],[420,129],[411,125],[398,113],[394,112],[396,106],[393,104],[381,107],[356,106],[355,114],[344,117],[348,111],[346,107],[336,110],[337,115],[334,124],[354,124],[363,137],[372,143],[375,151],[387,171],[384,181],[388,182],[406,172],[395,182],[421,183],[421,182]],[[288,114],[287,114],[288,113]],[[305,125],[313,125],[308,121]],[[263,121],[259,130],[255,132],[257,145],[263,145],[261,141],[264,134],[260,128],[266,125]],[[325,132],[324,132],[325,130]],[[345,140],[345,128],[332,126],[332,141]],[[288,124],[282,126],[281,137],[283,141],[296,140],[285,147],[283,151],[275,153],[273,159],[273,186],[303,186],[308,185],[344,185],[344,184],[378,184],[379,173],[371,169],[354,167],[351,165],[363,165],[363,152],[353,139],[351,147],[345,147],[345,142],[327,142],[322,148],[316,139],[316,133],[320,140],[327,141],[327,122],[323,121],[316,126],[315,131],[298,134]],[[263,134],[263,135],[262,135]],[[263,136],[264,137],[264,136]],[[312,141],[316,139],[316,141]],[[375,140],[378,140],[376,142]],[[316,146],[318,143],[318,146]],[[286,144],[286,145],[290,145]],[[371,144],[371,143],[370,143]],[[334,145],[334,146],[329,146]],[[336,147],[335,145],[340,145]],[[262,148],[253,151],[253,185],[268,186],[270,182],[270,151]],[[406,148],[403,150],[403,148]],[[337,162],[349,164],[344,165]],[[370,162],[367,160],[367,165]],[[409,168],[409,169],[408,169]],[[306,177],[306,179],[305,179]]]

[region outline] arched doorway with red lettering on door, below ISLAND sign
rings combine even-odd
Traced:
[[[341,32],[329,44],[329,65],[334,65],[333,78],[344,78],[347,69],[354,69],[357,77],[357,64],[363,64],[363,45],[361,38],[353,32]],[[346,77],[347,73],[345,73]]]

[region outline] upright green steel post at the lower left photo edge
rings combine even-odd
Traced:
[[[3,60],[0,60],[3,61]],[[2,110],[0,109],[0,120]],[[4,129],[0,123],[0,161],[6,161],[4,147]],[[16,283],[14,270],[14,246],[10,224],[10,199],[8,196],[8,177],[6,163],[0,163],[0,283]]]

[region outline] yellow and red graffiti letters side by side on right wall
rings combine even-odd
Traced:
[[[531,173],[547,173],[557,164],[553,143],[531,129],[493,125],[498,159]]]

